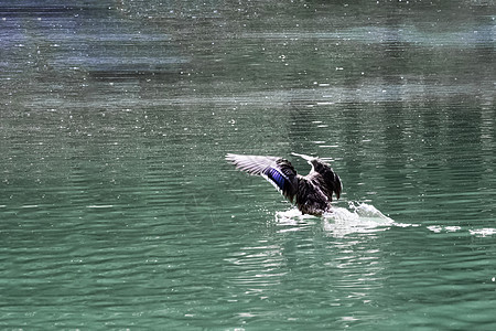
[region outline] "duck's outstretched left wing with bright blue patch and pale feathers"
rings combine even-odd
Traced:
[[[296,171],[290,161],[262,156],[240,156],[228,153],[226,160],[237,169],[263,177],[289,201],[293,201],[298,191]]]

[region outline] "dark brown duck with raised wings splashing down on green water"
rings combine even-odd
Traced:
[[[295,152],[291,154],[312,166],[309,174],[296,173],[289,160],[279,157],[227,153],[225,159],[238,170],[265,178],[303,215],[322,216],[332,213],[333,194],[339,199],[343,190],[337,173],[317,157]]]

